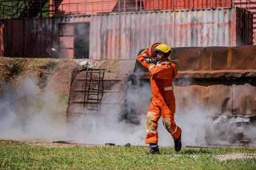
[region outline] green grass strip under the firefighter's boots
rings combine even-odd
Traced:
[[[255,148],[161,147],[161,155],[146,155],[143,146],[45,147],[0,140],[0,169],[256,169],[255,159],[219,161],[214,155],[255,153]]]

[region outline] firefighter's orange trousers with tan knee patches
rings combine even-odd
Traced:
[[[164,128],[172,135],[172,138],[179,138],[181,128],[175,124],[172,110],[172,105],[162,104],[158,99],[150,102],[150,109],[146,118],[146,143],[158,143],[157,128],[160,116],[162,116]]]

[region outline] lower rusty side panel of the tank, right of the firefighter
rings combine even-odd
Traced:
[[[195,107],[212,116],[255,116],[256,113],[256,87],[249,84],[174,86],[174,93],[179,103],[177,113],[188,113]]]

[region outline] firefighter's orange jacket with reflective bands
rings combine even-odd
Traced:
[[[177,68],[174,63],[169,60],[163,62],[146,63],[144,60],[148,58],[148,49],[143,50],[139,56],[137,56],[137,61],[143,65],[150,72],[150,83],[152,88],[152,99],[160,98],[163,103],[172,103],[175,105],[175,98],[172,89],[172,81],[177,77]],[[171,110],[175,112],[175,110]]]

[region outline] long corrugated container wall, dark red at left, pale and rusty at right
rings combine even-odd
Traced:
[[[154,42],[172,47],[238,46],[252,44],[251,15],[242,9],[204,9],[8,19],[2,22],[1,46],[5,56],[73,58],[65,46],[59,48],[59,24],[81,22],[90,22],[89,58],[96,60],[133,59]]]

